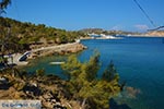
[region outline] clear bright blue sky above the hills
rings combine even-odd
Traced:
[[[164,25],[164,0],[137,0],[156,26]],[[5,17],[67,31],[153,28],[133,0],[12,0]]]

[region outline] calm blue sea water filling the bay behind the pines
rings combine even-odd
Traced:
[[[122,37],[122,39],[82,40],[89,48],[77,56],[87,61],[95,50],[101,53],[101,72],[113,60],[120,83],[132,89],[131,95],[119,94],[115,101],[119,109],[163,109],[164,108],[164,38],[160,37]],[[32,61],[27,71],[45,69],[65,78],[59,65],[50,65],[51,61],[63,61],[68,56],[51,56]],[[127,107],[121,107],[126,105]]]

